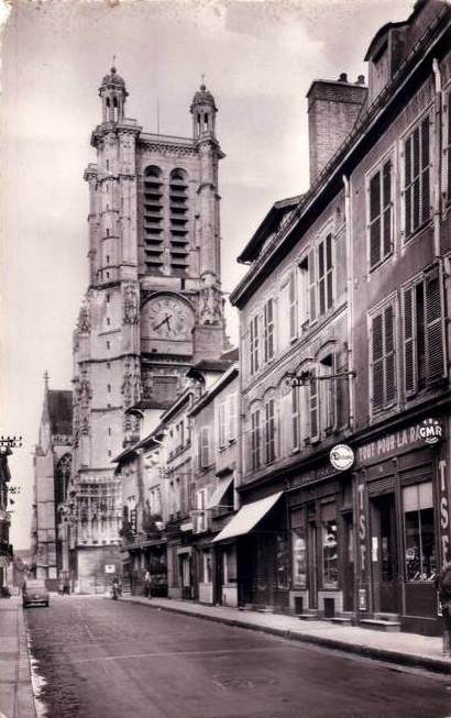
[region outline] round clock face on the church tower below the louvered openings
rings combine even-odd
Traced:
[[[150,334],[155,339],[190,339],[193,312],[175,297],[157,297],[148,302]]]

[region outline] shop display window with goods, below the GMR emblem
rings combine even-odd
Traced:
[[[403,489],[407,581],[433,581],[437,549],[433,527],[432,482]]]

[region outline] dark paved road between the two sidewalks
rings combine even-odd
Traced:
[[[98,597],[29,608],[48,718],[446,718],[451,677]]]

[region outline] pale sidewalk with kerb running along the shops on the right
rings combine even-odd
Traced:
[[[224,606],[207,606],[168,598],[130,596],[123,601],[144,604],[176,614],[187,614],[210,621],[265,631],[296,641],[359,653],[378,661],[422,667],[438,673],[451,673],[451,660],[442,656],[442,639],[417,633],[384,632],[359,626],[342,626],[329,621],[302,621],[296,616],[241,611]]]

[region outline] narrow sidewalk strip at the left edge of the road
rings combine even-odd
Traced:
[[[20,597],[0,600],[0,718],[36,718]]]

